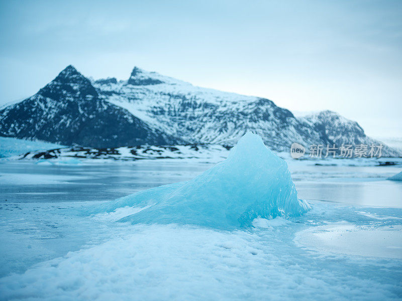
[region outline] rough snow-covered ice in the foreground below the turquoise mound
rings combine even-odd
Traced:
[[[402,295],[398,259],[309,255],[292,242],[299,223],[252,231],[122,226],[126,234],[0,279],[0,299],[363,301]]]

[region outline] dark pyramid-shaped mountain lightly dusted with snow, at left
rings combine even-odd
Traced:
[[[0,134],[93,147],[180,140],[99,97],[91,82],[72,66],[35,95],[1,110]]]

